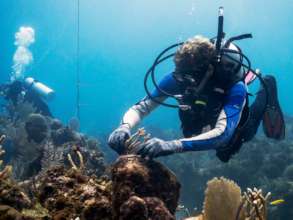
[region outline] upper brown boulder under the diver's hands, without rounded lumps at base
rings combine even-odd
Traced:
[[[131,196],[156,197],[171,214],[175,213],[180,184],[176,176],[159,162],[135,155],[122,156],[112,168],[112,180],[114,217],[120,216],[120,207]]]

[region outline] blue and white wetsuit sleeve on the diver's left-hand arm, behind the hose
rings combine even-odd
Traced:
[[[160,81],[159,88],[170,94],[177,94],[179,92],[179,87],[176,80],[173,78],[172,73],[166,75]],[[151,93],[151,96],[160,102],[164,101],[167,98],[158,89],[155,89]],[[138,103],[133,105],[130,109],[128,109],[128,111],[123,116],[122,124],[128,125],[129,128],[135,127],[158,105],[159,104],[154,102],[149,96],[146,96]]]

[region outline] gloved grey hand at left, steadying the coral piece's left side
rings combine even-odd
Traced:
[[[128,125],[120,125],[109,136],[108,145],[118,154],[122,154],[125,148],[125,141],[130,138],[130,129]]]

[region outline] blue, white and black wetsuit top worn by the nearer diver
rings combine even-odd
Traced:
[[[159,83],[159,87],[173,95],[182,94],[182,87],[172,74],[166,75]],[[167,98],[158,90],[152,93],[152,97],[160,101]],[[180,111],[179,116],[185,136],[180,139],[183,151],[218,149],[228,145],[240,124],[246,97],[246,85],[239,81],[227,91],[213,87],[213,91],[207,96],[209,101],[207,108],[217,109],[205,109],[206,115],[198,115],[196,111],[194,113]],[[216,105],[213,103],[214,100],[218,102]],[[123,117],[123,123],[132,128],[157,106],[157,103],[146,97],[128,110]],[[202,120],[203,118],[206,121]]]

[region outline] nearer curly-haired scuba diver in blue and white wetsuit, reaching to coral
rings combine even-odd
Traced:
[[[285,137],[275,78],[262,77],[259,71],[253,70],[249,59],[234,43],[252,35],[226,40],[223,8],[219,10],[218,22],[216,38],[195,36],[170,46],[157,57],[145,77],[147,96],[124,114],[120,126],[109,136],[111,148],[123,154],[131,129],[159,105],[179,109],[184,138],[171,141],[152,138],[135,149],[142,157],[213,149],[221,161],[228,162],[244,142],[255,136],[261,122],[267,137],[276,140]],[[165,55],[178,46],[175,53]],[[174,57],[174,72],[157,83],[156,66],[171,57]],[[149,76],[155,86],[153,92],[147,88]],[[247,85],[255,78],[259,78],[261,88],[249,106]],[[179,104],[165,103],[168,97]]]

